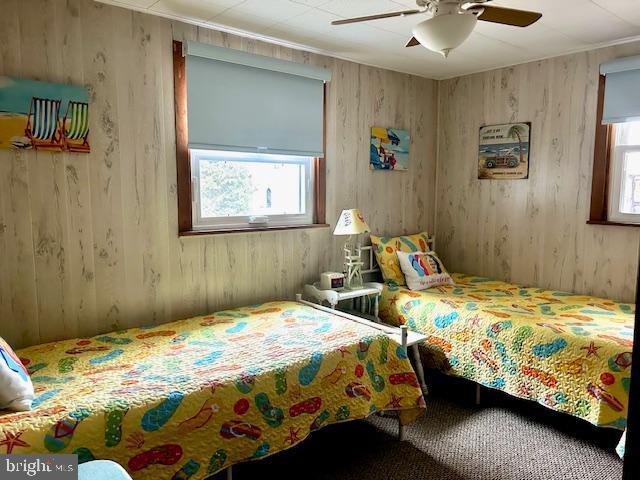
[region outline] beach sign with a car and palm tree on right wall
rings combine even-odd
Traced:
[[[478,178],[529,178],[530,138],[530,122],[480,127]]]

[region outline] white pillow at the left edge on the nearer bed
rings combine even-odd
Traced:
[[[35,394],[29,372],[0,337],[0,410],[31,410]]]

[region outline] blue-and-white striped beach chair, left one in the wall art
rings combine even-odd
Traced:
[[[62,150],[60,103],[61,100],[50,98],[31,98],[25,135],[33,148]]]

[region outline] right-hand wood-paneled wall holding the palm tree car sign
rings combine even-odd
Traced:
[[[640,228],[587,225],[598,69],[640,43],[440,82],[437,245],[448,268],[631,302]],[[531,121],[528,180],[478,180],[478,129]]]

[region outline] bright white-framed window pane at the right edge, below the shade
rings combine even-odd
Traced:
[[[640,223],[640,122],[613,125],[609,220]]]

